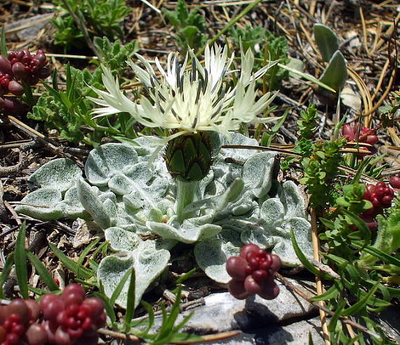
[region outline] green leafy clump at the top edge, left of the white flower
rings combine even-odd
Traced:
[[[54,43],[63,45],[67,51],[72,47],[84,45],[84,32],[94,36],[107,36],[110,39],[122,38],[121,21],[131,11],[125,0],[53,0],[58,5],[58,17],[52,21],[57,32]],[[81,22],[78,25],[75,18]]]

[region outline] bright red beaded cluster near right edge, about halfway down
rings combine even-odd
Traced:
[[[394,192],[385,182],[378,182],[376,185],[366,185],[363,199],[372,203],[371,209],[361,213],[360,217],[367,223],[371,230],[378,227],[375,216],[382,213],[383,209],[391,206]]]

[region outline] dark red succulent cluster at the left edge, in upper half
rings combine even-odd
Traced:
[[[22,96],[25,91],[20,82],[35,85],[39,79],[47,78],[51,74],[47,64],[43,50],[38,50],[35,55],[26,49],[10,52],[8,58],[0,55],[0,110],[16,112],[19,102],[3,95]]]

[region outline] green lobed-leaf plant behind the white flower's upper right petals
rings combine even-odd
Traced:
[[[245,28],[232,28],[230,34],[234,43],[238,46],[241,43],[245,52],[248,49],[253,50],[255,57],[258,58],[255,63],[257,68],[265,65],[267,60],[279,60],[281,64],[289,62],[288,41],[284,36],[275,36],[263,27],[251,27],[251,25],[246,25]],[[276,90],[288,75],[286,69],[274,66],[265,74],[264,80],[269,90]]]

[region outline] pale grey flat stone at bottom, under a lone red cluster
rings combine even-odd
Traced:
[[[315,283],[288,279],[306,295],[314,295]],[[208,342],[208,344],[308,344],[311,332],[314,345],[324,344],[319,335],[319,318],[316,308],[298,297],[279,281],[280,293],[274,300],[263,300],[258,296],[246,300],[236,300],[230,293],[213,293],[204,297],[201,307],[182,312],[175,324],[180,323],[193,312],[182,332],[196,335],[215,334],[230,330],[241,330],[236,337]],[[304,321],[311,319],[309,321]],[[161,326],[161,317],[156,317],[151,333],[157,332]],[[133,345],[130,342],[127,345]]]

